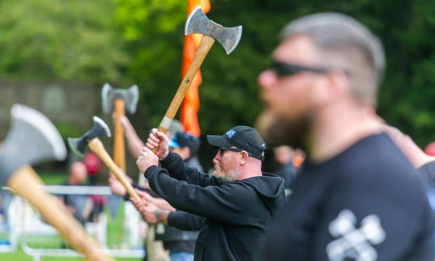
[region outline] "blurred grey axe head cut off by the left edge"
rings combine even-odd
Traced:
[[[67,156],[65,143],[53,123],[25,105],[11,108],[11,128],[0,152],[0,187],[23,165]]]

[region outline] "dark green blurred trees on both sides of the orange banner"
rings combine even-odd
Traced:
[[[180,83],[185,9],[178,8],[185,8],[185,1],[117,2],[122,4],[119,14],[124,15],[118,20],[124,25],[126,39],[133,40],[132,50],[136,53],[128,72],[143,81],[142,98],[153,115],[151,125],[157,126]],[[243,36],[228,56],[221,46],[213,46],[201,67],[199,122],[203,140],[207,133],[223,133],[239,124],[253,125],[262,109],[256,78],[267,67],[270,53],[279,43],[279,30],[294,18],[323,11],[352,15],[380,36],[387,53],[387,74],[380,92],[379,114],[421,146],[435,139],[432,120],[435,103],[431,102],[435,98],[431,87],[435,81],[431,48],[434,34],[430,33],[435,29],[432,15],[435,2],[210,0],[210,3],[208,18],[226,27],[243,25]],[[127,12],[128,7],[135,12]],[[159,15],[163,15],[160,21],[165,21],[164,26],[150,19]],[[203,164],[207,164],[212,149],[207,146],[203,149],[206,150]]]

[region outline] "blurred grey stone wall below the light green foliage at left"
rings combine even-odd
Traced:
[[[83,135],[93,126],[93,115],[102,118],[114,131],[111,115],[102,113],[101,86],[85,86],[76,83],[43,83],[0,80],[0,140],[6,137],[11,123],[11,107],[15,103],[27,105],[43,113],[56,126],[73,128]],[[114,88],[118,88],[114,86]],[[145,113],[138,104],[135,115],[127,115],[138,131],[140,138],[147,138]],[[64,137],[65,138],[65,137]],[[109,154],[112,155],[112,138],[102,138]],[[126,152],[127,170],[137,175],[135,159]],[[69,160],[75,159],[69,153]],[[65,162],[66,163],[66,162]],[[107,174],[107,173],[105,173]]]

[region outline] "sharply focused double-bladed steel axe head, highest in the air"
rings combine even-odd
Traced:
[[[213,37],[224,46],[227,55],[231,53],[241,38],[241,25],[238,27],[222,27],[208,19],[203,13],[201,6],[197,6],[189,18],[187,18],[185,35],[187,34],[206,34]]]

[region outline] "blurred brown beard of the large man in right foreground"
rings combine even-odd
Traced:
[[[263,111],[255,123],[255,127],[268,146],[289,145],[306,149],[310,116],[301,116],[289,121],[283,116],[273,116]]]

